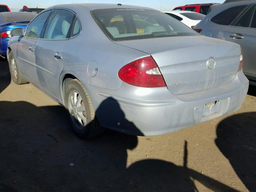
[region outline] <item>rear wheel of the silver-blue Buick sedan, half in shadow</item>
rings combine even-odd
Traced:
[[[71,80],[65,91],[65,108],[73,132],[83,139],[103,134],[104,128],[98,123],[90,97],[81,82]]]

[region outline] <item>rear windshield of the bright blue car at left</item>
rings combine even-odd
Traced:
[[[5,23],[31,21],[37,14],[28,12],[6,12],[1,13]]]

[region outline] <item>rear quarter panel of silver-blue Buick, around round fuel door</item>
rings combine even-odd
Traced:
[[[90,84],[94,88],[117,90],[122,84],[118,78],[118,70],[134,60],[149,55],[112,42],[86,8],[81,7],[76,13],[82,30],[78,36],[68,40],[60,85],[65,74],[72,74],[82,83]],[[98,71],[95,76],[88,74],[90,63],[97,64]]]

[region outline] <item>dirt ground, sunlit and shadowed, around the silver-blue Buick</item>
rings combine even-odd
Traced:
[[[0,192],[256,191],[256,87],[235,113],[152,137],[80,140],[65,110],[0,62]]]

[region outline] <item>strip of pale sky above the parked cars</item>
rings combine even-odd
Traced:
[[[57,4],[69,4],[69,3],[114,3],[114,4],[128,4],[154,8],[162,11],[172,10],[177,6],[185,4],[196,3],[209,3],[211,0],[0,0],[1,4],[7,4],[11,11],[18,11],[24,5],[29,8],[47,8]],[[214,3],[223,3],[224,0],[213,0]],[[162,6],[161,6],[162,5]]]

